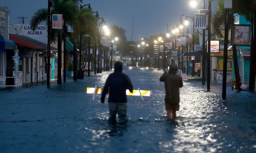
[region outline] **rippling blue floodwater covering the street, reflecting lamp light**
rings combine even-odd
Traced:
[[[113,71],[112,71],[113,72]],[[183,81],[177,123],[166,121],[163,71],[124,67],[134,89],[127,96],[127,126],[108,125],[108,104],[87,87],[103,88],[111,71],[57,85],[56,80],[0,89],[0,152],[256,152],[256,94],[222,84]],[[87,74],[86,74],[87,75]],[[107,102],[108,96],[105,98]]]

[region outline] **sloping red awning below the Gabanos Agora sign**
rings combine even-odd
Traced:
[[[26,39],[23,39],[22,37],[25,37],[25,36],[9,34],[9,37],[12,41],[15,42],[15,44],[17,46],[22,47],[22,48],[32,48],[32,49],[39,49],[39,50],[46,50],[47,49],[47,47],[42,47],[38,44],[35,44],[35,43],[30,42]]]

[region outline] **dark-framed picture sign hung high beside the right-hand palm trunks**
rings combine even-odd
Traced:
[[[251,25],[232,25],[230,44],[234,46],[251,46]]]

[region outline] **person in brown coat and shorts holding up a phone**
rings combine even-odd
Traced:
[[[165,108],[167,112],[167,120],[175,121],[176,111],[179,111],[179,88],[183,86],[182,78],[177,75],[177,66],[171,64],[165,69],[164,74],[160,77],[160,81],[165,85]]]

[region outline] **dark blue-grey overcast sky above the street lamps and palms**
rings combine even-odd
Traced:
[[[196,8],[190,7],[190,0],[84,0],[82,5],[90,3],[92,11],[99,12],[108,25],[117,25],[126,30],[128,40],[150,37],[158,33],[166,33],[180,22],[180,15],[194,16],[197,9],[203,8],[203,0],[198,0]],[[217,0],[212,2],[212,13],[215,12]],[[40,8],[48,7],[48,0],[1,0],[1,6],[7,6],[10,11],[10,23],[19,24],[24,16],[25,24],[29,24],[33,13]],[[206,0],[206,8],[208,1]],[[185,17],[183,16],[183,20]],[[192,21],[190,21],[192,22]],[[192,24],[189,27],[192,29]]]

